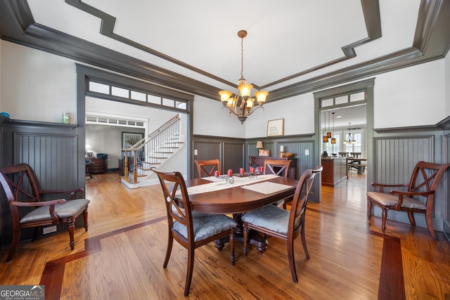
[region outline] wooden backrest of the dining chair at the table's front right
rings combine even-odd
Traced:
[[[314,176],[319,174],[322,170],[322,166],[317,166],[315,169],[307,169],[303,172],[302,176],[300,176],[300,180],[297,183],[292,206],[290,207],[288,227],[288,235],[293,235],[293,238],[300,233],[300,229],[304,224],[309,191],[311,190],[312,183],[314,182]],[[297,219],[300,219],[300,223],[297,223],[297,226],[295,226]]]

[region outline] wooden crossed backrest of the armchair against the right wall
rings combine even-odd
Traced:
[[[418,162],[413,169],[411,179],[408,184],[409,192],[430,192],[435,191],[439,180],[450,164],[435,164],[432,162]],[[432,208],[435,194],[428,195],[427,209]]]

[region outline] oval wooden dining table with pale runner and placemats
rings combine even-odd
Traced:
[[[238,223],[236,241],[243,241],[243,226],[240,217],[247,211],[271,205],[292,197],[298,181],[273,174],[234,174],[233,183],[228,176],[193,178],[186,181],[191,209],[205,214],[231,214]],[[214,242],[218,249],[226,240]],[[263,253],[269,244],[266,237],[252,231],[248,242]]]

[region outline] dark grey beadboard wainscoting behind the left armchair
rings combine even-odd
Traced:
[[[41,189],[66,190],[84,188],[84,169],[77,169],[77,126],[46,122],[11,120],[4,124],[1,136],[1,165],[30,164]],[[55,194],[44,200],[68,197]],[[79,195],[84,197],[84,195]],[[11,213],[4,193],[0,197],[1,244],[11,244]],[[78,220],[79,219],[79,220]],[[75,226],[82,226],[78,218]],[[67,224],[57,226],[57,232],[66,231]],[[33,229],[23,230],[21,240],[30,240]]]

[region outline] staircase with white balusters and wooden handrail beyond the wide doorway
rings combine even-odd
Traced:
[[[180,126],[180,115],[175,115],[141,141],[130,148],[122,149],[124,176],[121,181],[124,185],[128,188],[139,188],[155,184],[150,169],[159,168],[184,145],[184,141],[181,141]]]

